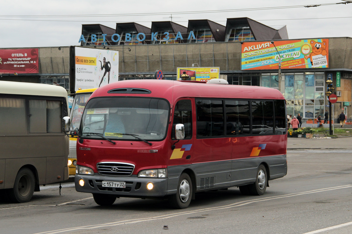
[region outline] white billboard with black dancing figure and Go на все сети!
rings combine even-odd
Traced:
[[[75,91],[119,80],[119,52],[75,47]]]

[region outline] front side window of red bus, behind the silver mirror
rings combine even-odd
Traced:
[[[172,139],[175,139],[175,125],[184,125],[184,139],[192,138],[192,103],[191,100],[180,100],[176,103],[174,112],[174,123],[172,127]]]

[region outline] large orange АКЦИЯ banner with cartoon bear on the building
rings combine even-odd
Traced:
[[[327,68],[329,39],[274,42],[281,57],[281,69]],[[270,41],[241,44],[241,70],[278,69],[279,55]]]

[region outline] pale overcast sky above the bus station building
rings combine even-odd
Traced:
[[[188,20],[191,19],[208,19],[226,26],[227,18],[248,17],[268,26],[286,25],[289,39],[352,38],[352,3],[336,4],[341,2],[344,1],[2,0],[0,48],[80,45],[78,40],[82,24],[102,24],[116,28],[117,22],[136,22],[150,28],[152,21],[171,20],[168,18],[171,13],[173,22],[186,27]],[[321,6],[303,7],[312,5]],[[263,9],[272,7],[280,9]],[[227,11],[201,13],[219,10]],[[187,13],[190,11],[194,12]],[[133,15],[136,13],[149,15]],[[129,14],[129,16],[116,16],[117,14]],[[65,17],[52,17],[58,15],[65,15]],[[90,16],[77,17],[76,15]],[[92,15],[104,16],[93,17]]]

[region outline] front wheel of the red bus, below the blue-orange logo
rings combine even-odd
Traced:
[[[192,199],[192,181],[187,173],[182,173],[178,180],[177,192],[169,198],[170,205],[176,209],[189,206]]]

